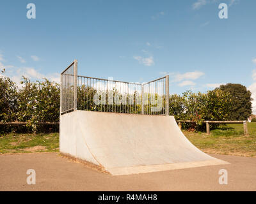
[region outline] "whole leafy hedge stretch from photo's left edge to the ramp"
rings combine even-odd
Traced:
[[[3,72],[3,71],[2,71]],[[28,122],[24,125],[0,125],[0,133],[10,131],[51,131],[58,130],[56,125],[38,124],[40,122],[59,122],[60,85],[46,78],[43,82],[30,82],[22,77],[23,86],[18,89],[8,77],[0,76],[0,121]]]

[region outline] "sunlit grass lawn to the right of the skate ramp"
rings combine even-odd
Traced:
[[[248,123],[249,136],[244,136],[243,124],[227,124],[206,133],[182,130],[200,150],[213,154],[256,157],[256,122]]]

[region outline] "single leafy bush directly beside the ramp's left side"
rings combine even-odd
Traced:
[[[23,77],[19,90],[17,119],[28,122],[36,131],[38,122],[58,122],[60,119],[60,85],[44,78],[31,82]]]

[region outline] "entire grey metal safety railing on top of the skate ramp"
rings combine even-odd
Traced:
[[[169,77],[145,84],[77,75],[77,61],[61,73],[61,114],[73,110],[168,115]]]

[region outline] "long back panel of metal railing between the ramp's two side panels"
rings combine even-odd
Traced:
[[[141,114],[141,84],[77,76],[77,110]]]

